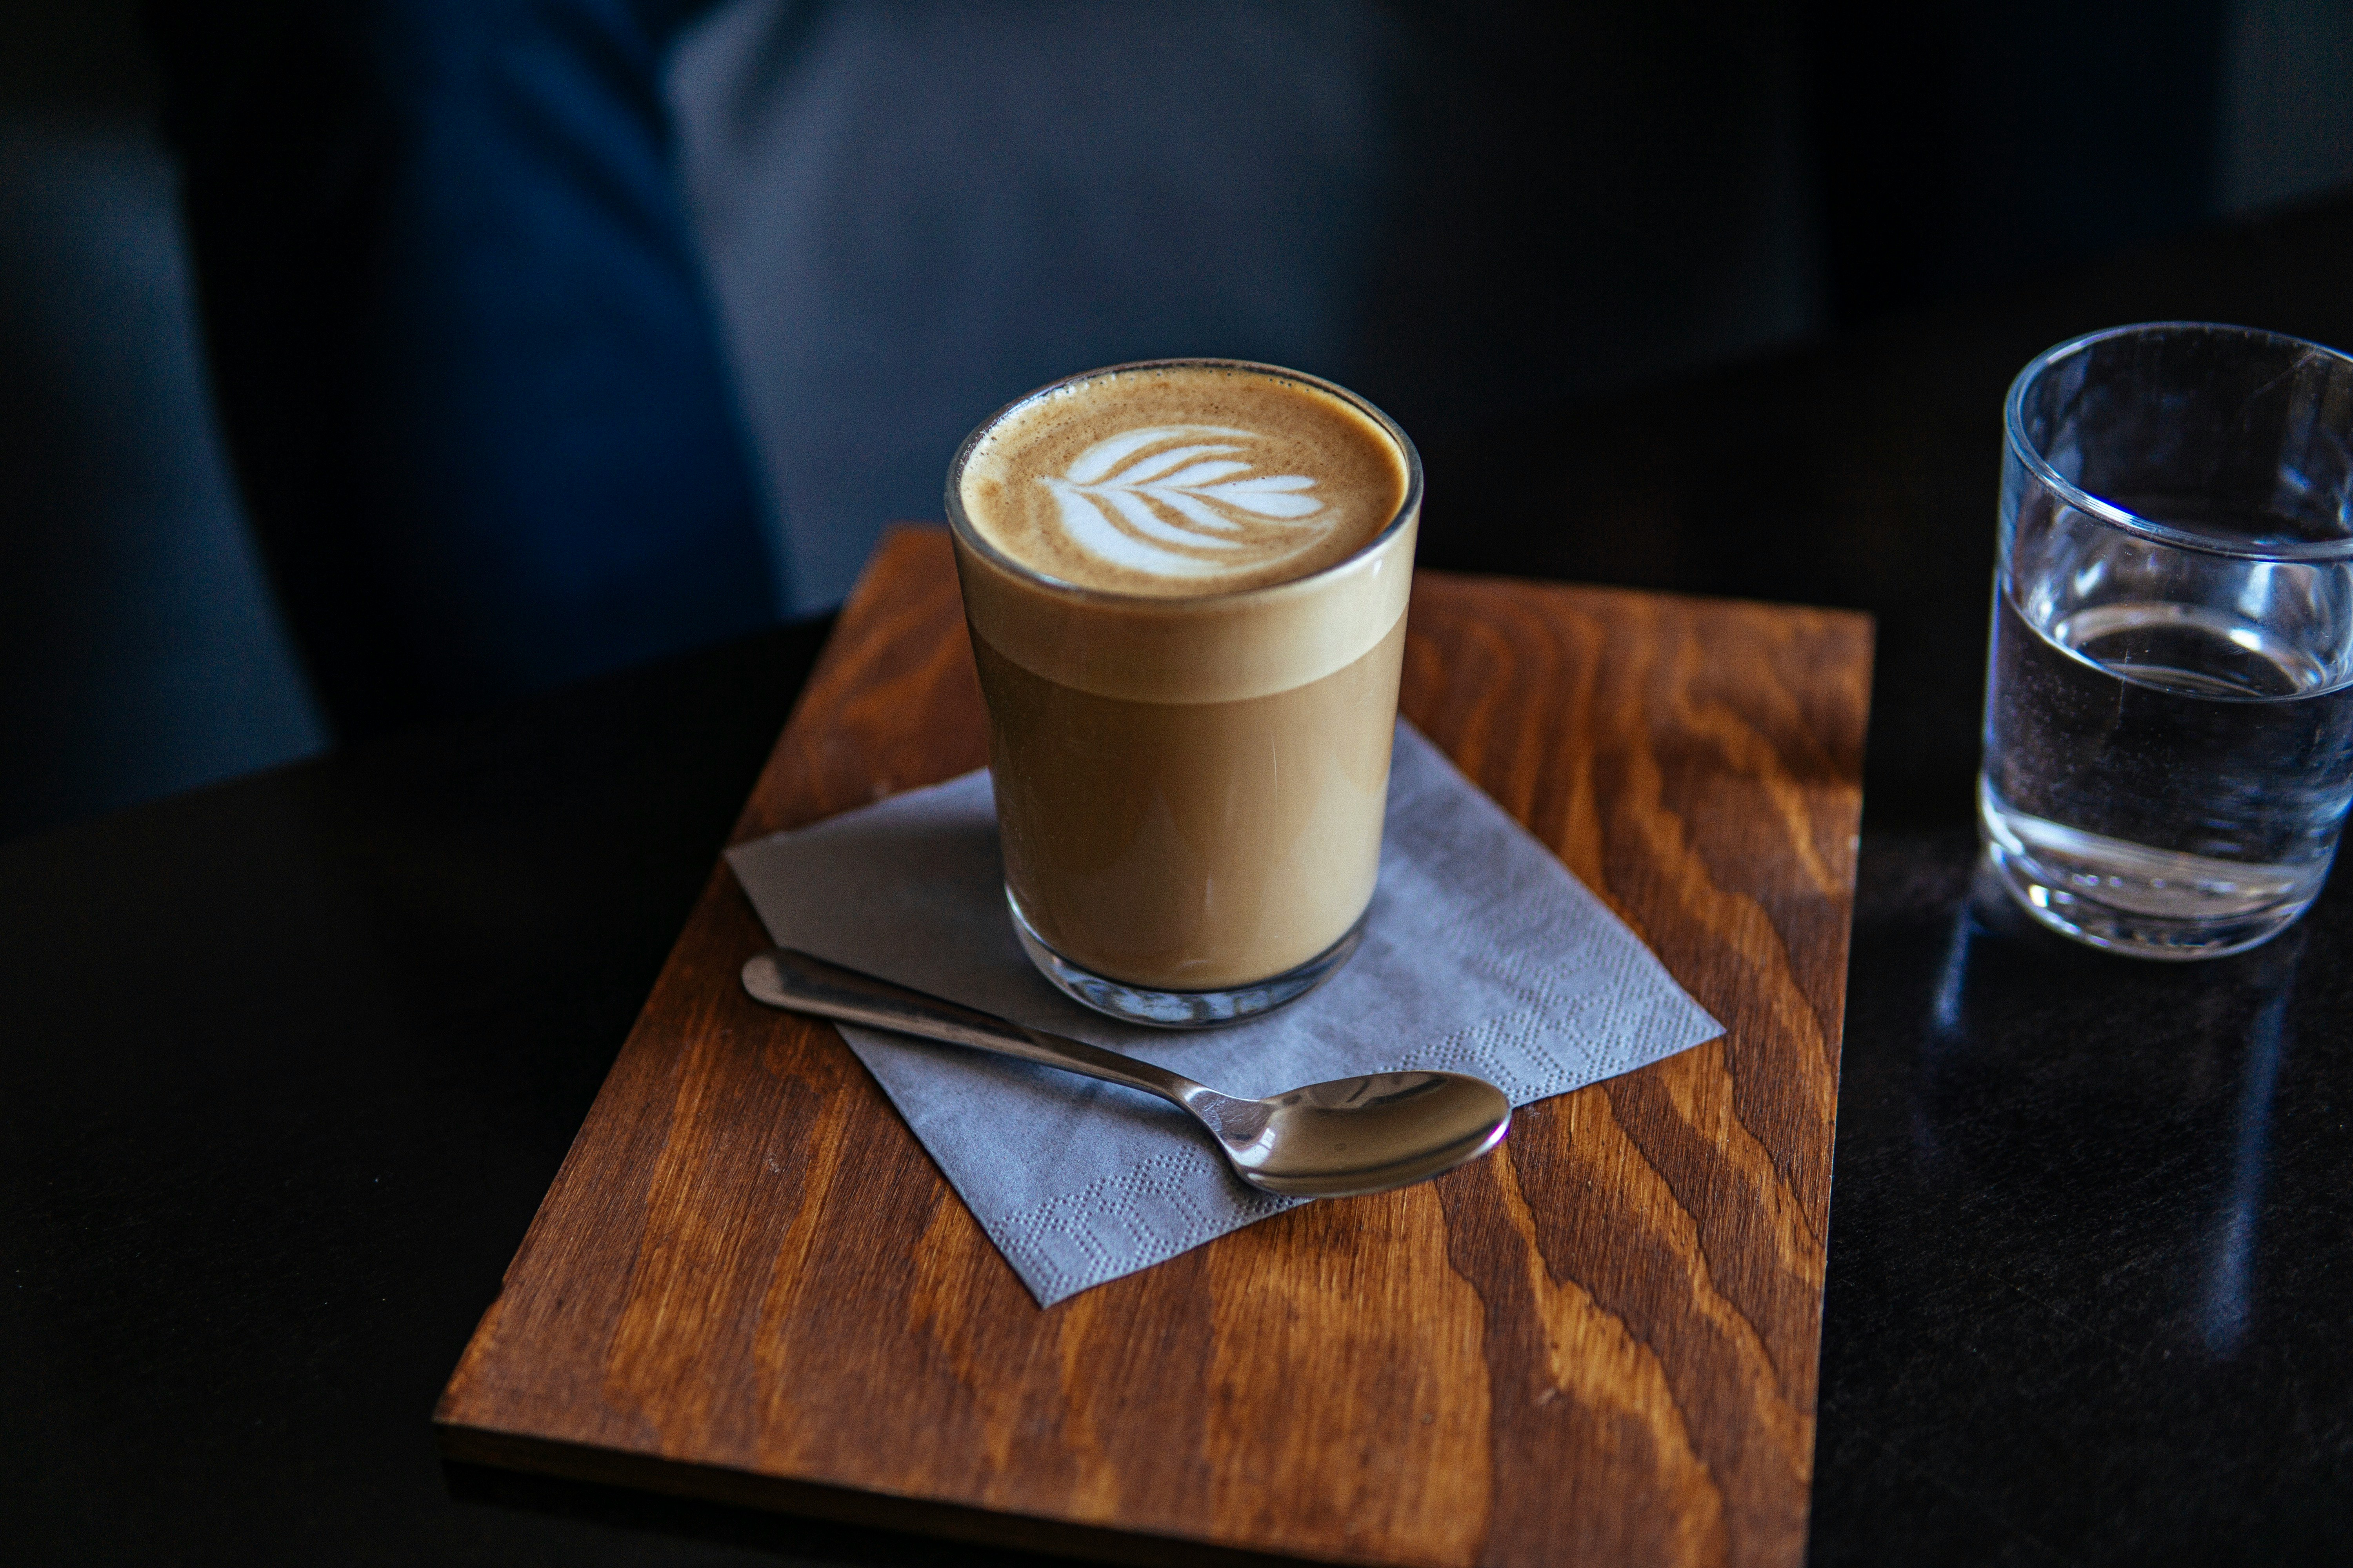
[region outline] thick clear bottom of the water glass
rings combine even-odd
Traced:
[[[2304,893],[2261,907],[2245,903],[2231,907],[2228,900],[2214,900],[2224,907],[2205,914],[2137,910],[2129,905],[2158,903],[2165,891],[2172,891],[2165,879],[2134,877],[2129,872],[2139,867],[2129,863],[2087,865],[2078,856],[2035,853],[2038,844],[2019,835],[2014,820],[1986,804],[1984,792],[1979,825],[1984,827],[1986,860],[1993,863],[2002,889],[2026,914],[2059,936],[2137,959],[2188,961],[2245,952],[2287,931],[2313,903],[2313,893]]]

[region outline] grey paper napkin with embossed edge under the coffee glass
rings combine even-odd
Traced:
[[[1475,1072],[1513,1105],[1722,1034],[1560,860],[1398,726],[1365,945],[1287,1009],[1202,1032],[1113,1023],[1031,969],[988,773],[727,851],[779,945],[1092,1039],[1235,1095],[1358,1072]],[[1000,1056],[842,1027],[1040,1305],[1292,1208],[1174,1105]]]

